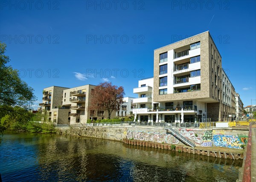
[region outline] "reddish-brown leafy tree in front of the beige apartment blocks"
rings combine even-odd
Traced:
[[[99,83],[92,91],[92,99],[88,108],[89,110],[108,111],[108,119],[110,119],[111,113],[122,104],[124,94],[122,86],[117,87],[111,82]]]

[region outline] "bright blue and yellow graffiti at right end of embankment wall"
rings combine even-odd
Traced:
[[[233,135],[213,135],[212,141],[217,147],[241,148],[243,145],[239,137]]]

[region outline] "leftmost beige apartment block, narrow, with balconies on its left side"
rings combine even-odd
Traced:
[[[66,87],[52,86],[44,88],[42,107],[42,121],[52,121],[55,124],[67,124],[69,108],[62,107],[62,92]]]

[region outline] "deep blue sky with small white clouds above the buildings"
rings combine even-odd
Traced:
[[[154,49],[210,31],[244,105],[256,103],[256,1],[0,1],[0,41],[35,89],[111,81],[137,97]]]

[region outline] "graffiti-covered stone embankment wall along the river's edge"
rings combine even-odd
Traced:
[[[180,152],[214,156],[223,159],[243,159],[242,149],[247,142],[244,128],[175,128],[183,137],[195,143],[192,148],[180,142],[164,128],[150,126],[83,126],[59,128],[59,134],[79,135],[122,141],[129,145],[170,150],[177,146]]]

